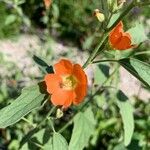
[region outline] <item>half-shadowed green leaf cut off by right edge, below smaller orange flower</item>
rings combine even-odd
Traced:
[[[120,65],[127,69],[147,87],[150,87],[150,65],[135,58],[119,60]]]

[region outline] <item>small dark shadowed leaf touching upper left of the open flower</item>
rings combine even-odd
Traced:
[[[38,64],[39,68],[44,72],[44,73],[54,73],[53,67],[49,66],[44,60],[39,58],[36,55],[33,55],[33,60],[35,61],[36,64]]]

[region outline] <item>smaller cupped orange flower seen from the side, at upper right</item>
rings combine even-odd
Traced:
[[[118,25],[109,33],[109,42],[112,48],[117,50],[126,50],[133,48],[131,36],[124,32],[123,23],[120,21]]]

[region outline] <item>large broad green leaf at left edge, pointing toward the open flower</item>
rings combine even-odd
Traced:
[[[40,107],[46,98],[44,88],[42,82],[39,85],[24,88],[16,100],[0,110],[0,128],[6,128],[18,122],[33,109]]]

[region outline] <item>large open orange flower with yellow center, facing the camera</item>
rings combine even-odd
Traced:
[[[82,67],[61,59],[54,65],[54,72],[44,79],[53,105],[67,108],[81,103],[87,93],[87,76]]]

